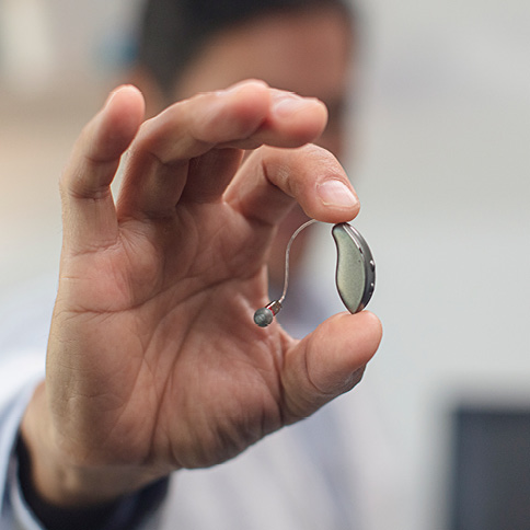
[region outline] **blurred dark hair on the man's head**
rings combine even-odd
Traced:
[[[147,0],[138,64],[171,94],[178,74],[215,33],[273,12],[325,5],[352,18],[348,0]]]

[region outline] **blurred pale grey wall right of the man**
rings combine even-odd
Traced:
[[[443,528],[449,411],[530,406],[530,3],[366,2],[359,227],[385,336],[366,382]]]

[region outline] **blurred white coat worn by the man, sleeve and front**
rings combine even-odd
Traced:
[[[20,493],[13,447],[26,403],[44,376],[54,286],[49,279],[33,284],[0,309],[2,530],[43,530]],[[175,473],[157,518],[145,528],[400,530],[402,472],[372,403],[362,382],[222,465]]]

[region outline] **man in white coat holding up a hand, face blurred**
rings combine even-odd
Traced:
[[[354,27],[342,0],[148,2],[145,100],[115,91],[61,180],[46,382],[23,365],[1,413],[2,528],[376,529],[382,506],[395,520],[391,473],[359,468],[369,425],[333,405],[301,420],[360,380],[377,319],[313,332],[327,315],[306,302],[286,323],[302,341],[252,322],[293,230],[358,211],[327,151],[344,148]]]

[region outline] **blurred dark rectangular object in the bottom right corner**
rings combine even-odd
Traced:
[[[530,408],[454,413],[450,530],[530,529]]]

